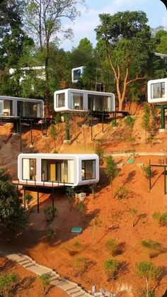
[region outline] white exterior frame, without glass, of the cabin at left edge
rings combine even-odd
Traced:
[[[11,116],[18,116],[18,108],[17,108],[17,102],[18,101],[40,103],[40,108],[41,108],[41,105],[42,105],[42,118],[44,117],[44,103],[43,103],[42,100],[25,99],[25,98],[10,97],[10,96],[0,96],[0,100],[2,100],[2,101],[4,101],[4,100],[13,101],[13,114]],[[4,108],[5,108],[5,106],[4,106]],[[38,111],[38,113],[39,113],[39,111]]]

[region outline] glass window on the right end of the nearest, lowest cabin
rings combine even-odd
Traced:
[[[96,179],[96,160],[82,160],[81,178]]]

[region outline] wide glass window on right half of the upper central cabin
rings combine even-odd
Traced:
[[[110,111],[110,96],[88,94],[89,111]]]

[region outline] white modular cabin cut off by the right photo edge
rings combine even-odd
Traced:
[[[147,96],[149,103],[167,103],[167,78],[153,79],[147,83]]]

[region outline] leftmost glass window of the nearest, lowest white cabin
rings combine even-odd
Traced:
[[[22,159],[22,179],[36,180],[36,159]]]

